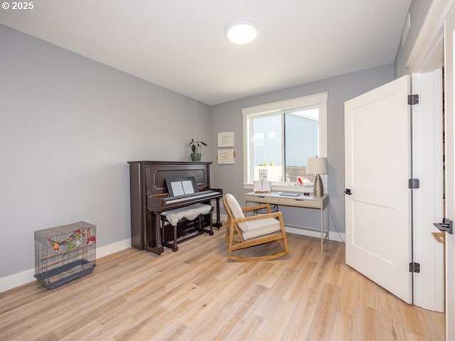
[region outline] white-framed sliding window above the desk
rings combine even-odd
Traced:
[[[327,97],[323,93],[242,109],[245,185],[253,180],[294,185],[299,177],[314,182],[314,175],[306,174],[306,160],[327,154]]]

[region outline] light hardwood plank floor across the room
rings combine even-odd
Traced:
[[[288,256],[258,263],[226,259],[224,227],[176,253],[105,256],[59,288],[0,293],[0,340],[444,340],[444,314],[350,269],[344,244],[288,239]]]

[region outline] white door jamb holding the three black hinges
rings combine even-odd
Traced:
[[[412,75],[412,93],[422,101],[412,106],[412,178],[414,262],[422,272],[413,274],[413,302],[444,311],[444,235],[434,227],[444,216],[442,180],[442,70]]]

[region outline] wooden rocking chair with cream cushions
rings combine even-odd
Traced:
[[[282,212],[271,213],[269,204],[240,207],[235,197],[230,193],[223,196],[223,202],[228,212],[226,224],[228,259],[234,261],[268,261],[289,254]],[[261,208],[266,208],[268,213],[245,217],[244,212]],[[233,251],[266,244],[274,240],[282,240],[284,247],[282,251],[263,256],[237,256],[232,254]]]

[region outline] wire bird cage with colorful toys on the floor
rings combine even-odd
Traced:
[[[46,288],[90,274],[95,261],[95,225],[75,222],[35,231],[35,277]]]

